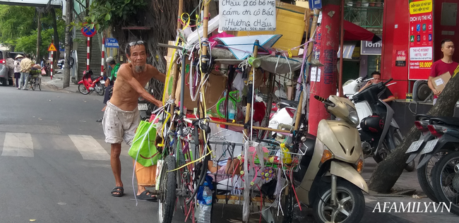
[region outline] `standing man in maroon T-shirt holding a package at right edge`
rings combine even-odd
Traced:
[[[436,90],[434,88],[434,84],[432,83],[432,78],[441,76],[443,73],[449,72],[451,76],[454,75],[455,68],[458,67],[458,63],[453,61],[453,54],[454,54],[454,43],[449,39],[445,39],[441,41],[441,52],[443,53],[443,58],[435,61],[432,64],[429,80],[427,84],[429,88],[434,92],[434,104],[436,103],[436,99],[439,97],[441,90]]]

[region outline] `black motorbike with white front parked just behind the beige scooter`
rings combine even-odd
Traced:
[[[372,156],[376,162],[386,159],[391,151],[403,141],[400,127],[393,119],[393,109],[379,99],[392,80],[391,78],[385,83],[370,85],[362,92],[358,92],[362,78],[348,80],[342,87],[345,95],[355,103],[359,119],[362,120],[359,125],[359,133],[362,138],[364,155],[365,157]],[[405,169],[415,170],[415,162],[407,164]]]

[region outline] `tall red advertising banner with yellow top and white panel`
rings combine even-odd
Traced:
[[[434,62],[432,0],[410,1],[410,52],[408,78],[427,80]]]

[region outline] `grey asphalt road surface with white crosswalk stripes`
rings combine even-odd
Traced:
[[[0,86],[0,223],[3,222],[157,222],[157,203],[134,200],[132,159],[123,145],[124,192],[110,195],[114,178],[109,145],[104,142],[103,97],[64,92],[44,86],[42,91]],[[88,147],[93,150],[88,150]],[[366,159],[366,179],[376,166]],[[403,185],[416,181],[403,175]],[[414,182],[417,184],[416,182]],[[412,187],[412,186],[410,186]],[[374,213],[378,202],[428,202],[405,197],[366,195],[362,222],[450,222],[449,213]],[[302,215],[310,214],[304,211]],[[241,222],[242,206],[215,205],[213,222]],[[251,222],[258,222],[259,215]],[[180,208],[174,222],[184,222]],[[190,221],[189,221],[190,222]],[[310,216],[295,222],[312,222]]]

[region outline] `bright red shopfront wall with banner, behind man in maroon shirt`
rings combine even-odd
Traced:
[[[455,35],[459,32],[458,4],[459,0],[398,0],[384,4],[382,78],[395,80],[397,84],[389,88],[398,99],[426,89],[431,64],[441,59],[442,40],[450,39],[459,45],[459,35]],[[459,61],[459,52],[455,52],[453,61]]]

